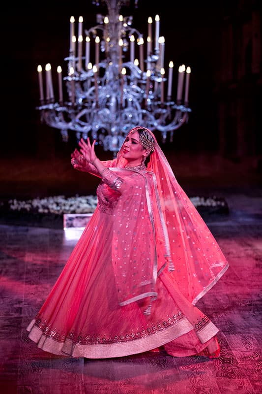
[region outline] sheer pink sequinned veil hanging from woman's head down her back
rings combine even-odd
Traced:
[[[143,127],[133,128],[129,133]],[[157,249],[157,275],[169,271],[182,295],[193,305],[225,273],[229,264],[203,218],[179,186],[174,172],[154,134],[154,152],[147,164],[151,175],[151,207]],[[126,160],[120,148],[114,167],[123,168]],[[165,259],[159,259],[161,254]]]

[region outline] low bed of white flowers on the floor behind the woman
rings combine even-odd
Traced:
[[[224,200],[216,197],[190,197],[193,205],[198,207],[226,207]],[[9,208],[13,211],[27,211],[38,213],[51,213],[63,215],[65,213],[92,213],[97,206],[97,196],[53,196],[44,198],[32,198],[29,200],[8,201]]]

